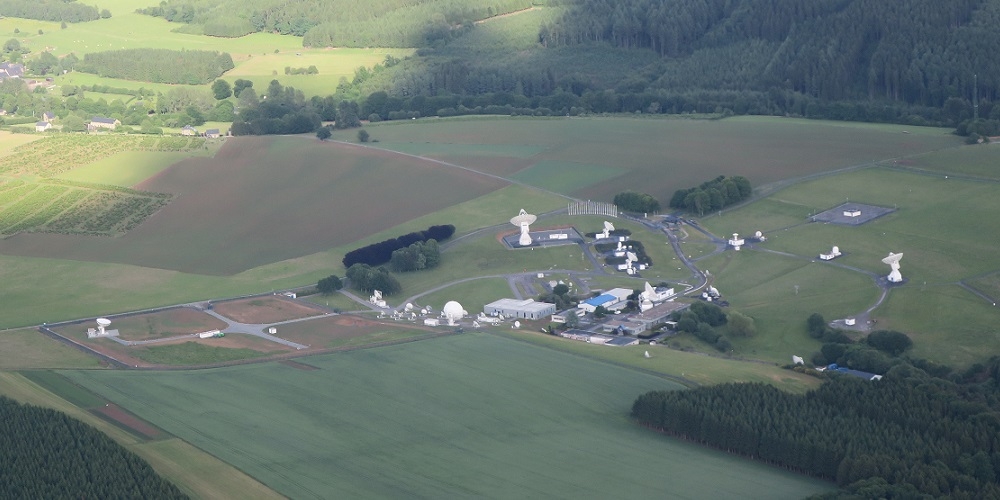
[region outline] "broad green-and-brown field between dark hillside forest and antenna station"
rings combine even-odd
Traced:
[[[633,189],[664,205],[675,190],[718,175],[743,175],[756,186],[960,143],[945,129],[773,117],[456,118],[382,122],[367,130],[379,147],[483,171],[503,175],[513,163],[528,169],[515,175],[522,180],[579,198],[610,201]],[[536,148],[524,161],[524,151]],[[612,172],[621,175],[609,178]]]

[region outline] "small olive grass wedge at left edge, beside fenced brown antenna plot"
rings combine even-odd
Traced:
[[[0,332],[0,370],[97,368],[97,358],[46,337],[34,328]]]

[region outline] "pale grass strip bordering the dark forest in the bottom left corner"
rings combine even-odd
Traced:
[[[132,433],[78,407],[24,375],[0,372],[0,394],[52,408],[96,427],[135,452],[182,491],[200,498],[283,498],[231,465],[177,438],[143,442]]]

